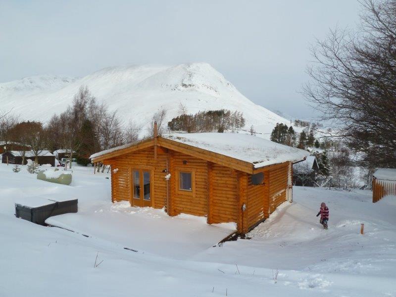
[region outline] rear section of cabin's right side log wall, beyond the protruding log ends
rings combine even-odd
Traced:
[[[269,213],[286,201],[289,164],[269,170]]]

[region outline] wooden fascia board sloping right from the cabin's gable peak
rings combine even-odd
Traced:
[[[242,161],[233,157],[229,157],[217,152],[206,150],[203,148],[193,147],[187,144],[183,144],[171,139],[158,138],[158,145],[164,148],[173,149],[175,151],[192,155],[194,157],[210,161],[225,167],[233,168],[242,172],[252,173],[253,164]]]

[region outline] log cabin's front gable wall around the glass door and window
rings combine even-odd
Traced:
[[[174,216],[187,213],[199,216],[209,214],[209,201],[212,203],[209,223],[237,222],[238,197],[237,175],[235,170],[213,164],[187,154],[169,150],[168,153],[157,151],[154,157],[153,148],[136,151],[115,157],[111,162],[112,200],[130,200],[132,195],[131,174],[134,166],[152,166],[154,168],[154,205],[155,208],[166,206],[166,180],[162,170],[166,168],[171,174],[169,180],[169,214]],[[211,164],[211,165],[209,165]],[[208,170],[208,168],[211,170]],[[114,169],[118,171],[114,173]],[[194,170],[194,191],[180,191],[178,174],[180,171]],[[208,183],[208,174],[211,183]],[[212,190],[210,190],[212,189]],[[208,192],[209,191],[209,192]],[[211,191],[211,194],[209,195]]]

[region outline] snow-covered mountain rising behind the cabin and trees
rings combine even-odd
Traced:
[[[167,120],[177,115],[180,102],[189,113],[208,109],[230,109],[244,113],[246,130],[270,133],[277,122],[290,121],[243,96],[224,76],[207,63],[176,66],[116,66],[83,78],[34,76],[0,84],[3,111],[22,119],[47,121],[71,103],[80,86],[86,85],[98,101],[146,126],[158,109],[167,110]],[[269,138],[269,135],[262,135]]]

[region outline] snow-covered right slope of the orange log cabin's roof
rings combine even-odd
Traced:
[[[254,168],[286,161],[299,161],[309,155],[306,150],[247,134],[172,133],[162,137],[252,163]]]

